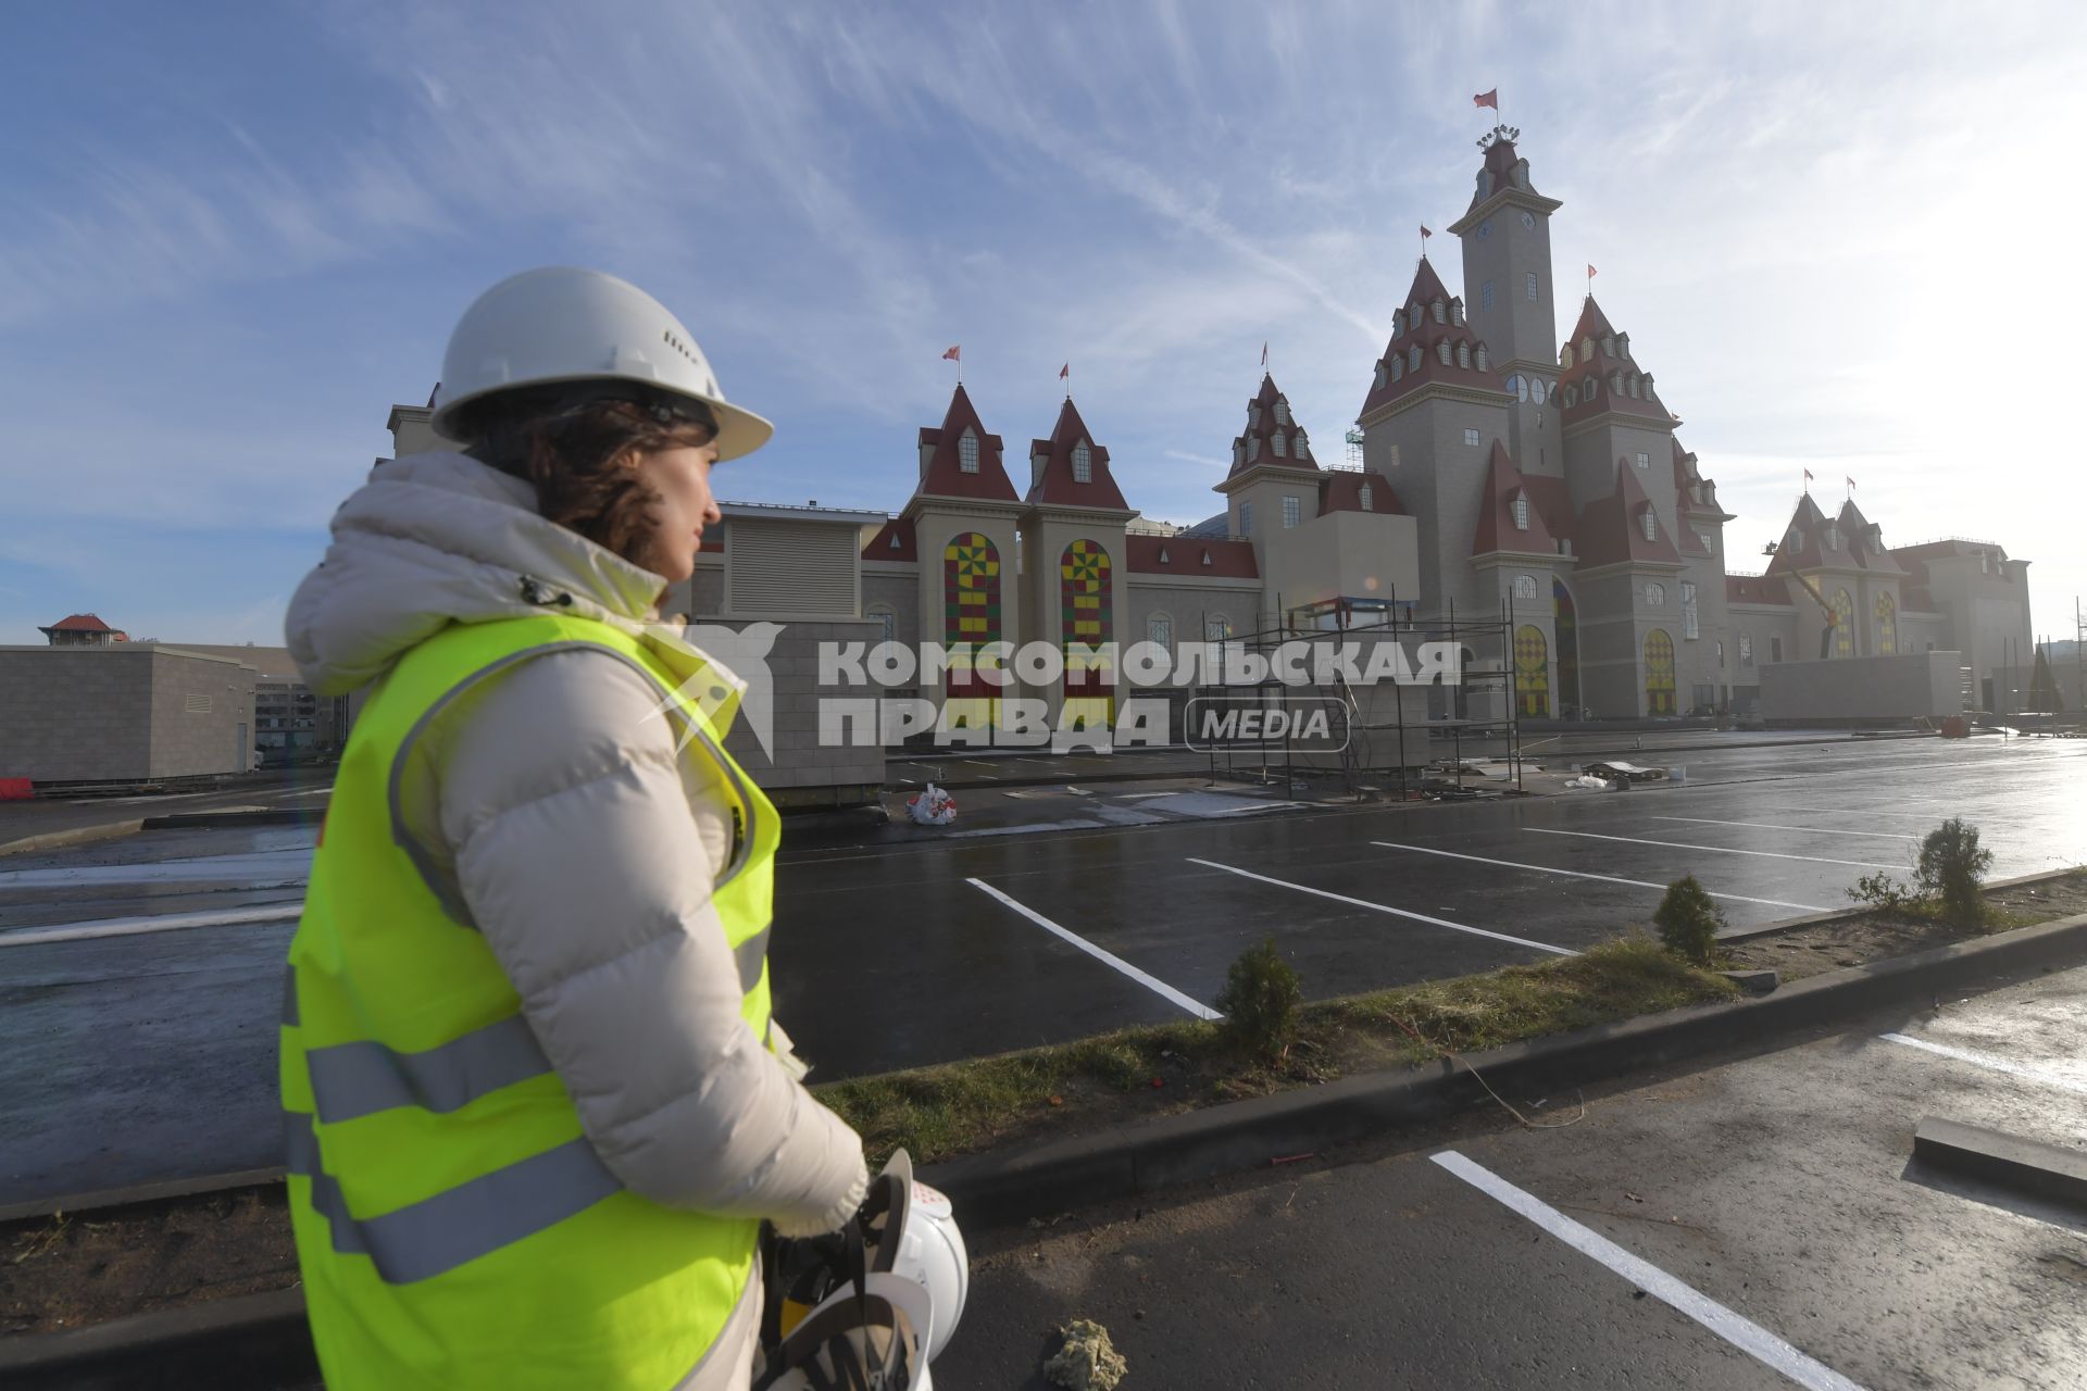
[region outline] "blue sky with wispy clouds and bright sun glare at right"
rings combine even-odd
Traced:
[[[282,640],[463,307],[632,279],[774,442],[897,511],[954,386],[1023,478],[1060,363],[1148,517],[1221,509],[1261,346],[1323,457],[1498,88],[1580,275],[1759,569],[1803,469],[1995,540],[2070,636],[2081,4],[21,6],[0,56],[0,644]],[[2049,369],[2052,375],[2045,375]],[[2052,392],[2037,384],[2060,382]],[[2035,390],[2033,390],[2035,388]]]

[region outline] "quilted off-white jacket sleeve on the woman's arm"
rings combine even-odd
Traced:
[[[705,774],[676,757],[657,703],[607,653],[493,678],[428,755],[445,859],[624,1187],[833,1230],[868,1182],[862,1141],[739,1018],[710,901],[728,807],[697,788],[691,811],[685,778]]]

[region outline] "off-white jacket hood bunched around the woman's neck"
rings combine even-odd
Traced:
[[[447,624],[557,611],[641,632],[668,580],[536,513],[536,490],[465,455],[384,459],[340,511],[284,621],[319,694],[384,676]],[[566,601],[570,596],[570,603]]]

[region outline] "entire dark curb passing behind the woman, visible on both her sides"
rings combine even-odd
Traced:
[[[1784,924],[1789,926],[1789,924]],[[1933,999],[1978,980],[2087,961],[2087,913],[1935,947],[1782,986],[1728,1005],[1690,1005],[1511,1043],[1478,1053],[1494,1091],[1584,1087],[1734,1045],[1784,1047],[1791,1034],[1847,1016]],[[1263,1168],[1273,1155],[1365,1141],[1486,1097],[1469,1066],[1438,1059],[1411,1072],[1371,1072],[1252,1101],[1144,1120],[1016,1153],[983,1153],[920,1170],[979,1228],[1152,1195],[1217,1174]],[[198,1187],[209,1187],[202,1180]],[[213,1385],[282,1387],[317,1366],[301,1291],[240,1295],[88,1328],[0,1341],[8,1387],[96,1389]]]

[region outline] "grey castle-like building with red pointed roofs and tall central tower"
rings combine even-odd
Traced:
[[[1872,665],[1784,682],[1818,709],[1772,717],[1953,713],[1945,684],[1993,709],[1995,672],[2029,651],[2029,563],[1993,542],[1889,548],[1853,501],[1828,517],[1805,494],[1766,574],[1730,574],[1736,517],[1630,334],[1588,294],[1557,336],[1563,202],[1536,192],[1515,138],[1486,138],[1448,227],[1465,296],[1423,257],[1392,309],[1346,436],[1359,459],[1327,465],[1263,375],[1215,488],[1225,511],[1158,534],[1071,396],[1016,490],[958,386],[920,430],[914,494],[862,548],[864,617],[902,642],[1064,646],[1062,680],[1023,690],[1054,719],[1108,719],[1121,699],[1073,644],[1179,649],[1363,609],[1505,617],[1496,657],[1524,717],[1747,711],[1761,669],[1797,661]],[[1008,690],[952,672],[941,694],[993,719]]]

